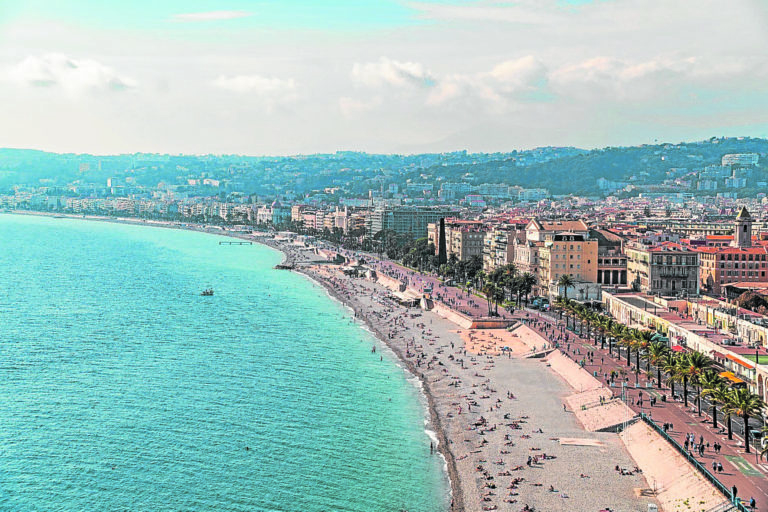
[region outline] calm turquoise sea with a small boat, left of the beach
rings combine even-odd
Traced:
[[[0,214],[0,510],[446,510],[394,356],[221,240]]]

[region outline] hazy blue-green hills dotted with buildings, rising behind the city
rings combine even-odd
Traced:
[[[754,154],[754,162],[724,155]],[[509,153],[377,155],[359,152],[243,155],[96,156],[0,149],[0,192],[41,187],[60,195],[172,193],[175,197],[344,199],[404,203],[486,203],[539,195],[624,197],[641,193],[754,197],[768,184],[768,141],[706,141],[595,150],[544,147]],[[537,189],[531,194],[523,189]],[[522,194],[522,195],[521,195]],[[472,198],[469,199],[471,201]]]

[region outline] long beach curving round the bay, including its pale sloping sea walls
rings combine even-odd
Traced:
[[[320,263],[323,258],[315,250],[287,240],[174,223],[150,225],[268,245],[284,254],[284,263],[352,308],[357,321],[423,385],[437,450],[448,469],[453,511],[645,511],[649,503],[677,510],[672,504],[699,493],[708,493],[707,503],[717,503],[712,488],[679,458],[677,486],[670,482],[662,489],[666,496],[651,492],[649,480],[655,487],[672,478],[658,467],[658,461],[671,460],[671,449],[651,435],[634,435],[631,442],[625,436],[622,442],[615,433],[600,431],[629,419],[626,406],[525,325],[461,328],[434,312],[399,305],[392,290],[348,277],[339,267]],[[651,443],[658,456],[639,456]]]

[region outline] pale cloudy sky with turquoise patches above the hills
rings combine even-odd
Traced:
[[[766,0],[0,0],[0,147],[294,155],[768,136]]]

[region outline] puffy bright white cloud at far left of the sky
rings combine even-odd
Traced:
[[[118,75],[100,62],[73,59],[58,53],[27,57],[12,66],[6,76],[18,85],[61,87],[72,94],[121,91],[137,85],[135,80]]]

